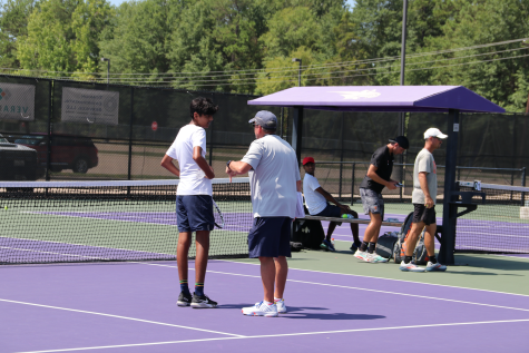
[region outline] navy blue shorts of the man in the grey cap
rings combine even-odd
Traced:
[[[291,257],[291,225],[288,217],[257,217],[248,234],[249,257]]]

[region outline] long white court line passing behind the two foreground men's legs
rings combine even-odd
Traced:
[[[161,264],[150,264],[150,263],[148,263],[148,264],[138,263],[138,264],[177,268],[176,266],[161,265]],[[189,267],[189,269],[195,271],[195,268],[192,268],[192,267]],[[219,271],[209,271],[209,269],[207,272],[208,273],[223,274],[223,275],[261,278],[261,276],[256,276],[256,275],[244,275],[244,274],[231,273],[231,272],[219,272]],[[321,286],[327,286],[327,287],[365,291],[365,292],[375,292],[375,293],[382,293],[382,294],[411,296],[411,297],[419,297],[419,298],[441,301],[441,302],[451,302],[451,303],[459,303],[459,304],[470,304],[470,305],[479,305],[479,306],[488,306],[488,307],[496,307],[496,308],[508,308],[508,310],[516,310],[516,311],[521,311],[521,312],[529,312],[529,308],[520,308],[520,307],[511,307],[511,306],[502,306],[502,305],[492,305],[492,304],[483,304],[483,303],[474,303],[474,302],[457,301],[457,300],[447,300],[447,298],[435,297],[435,296],[425,296],[425,295],[419,295],[419,294],[408,294],[408,293],[399,293],[399,292],[390,292],[390,291],[370,290],[370,288],[362,288],[362,287],[352,287],[352,286],[345,286],[345,285],[339,285],[339,284],[329,284],[329,283],[319,283],[319,282],[308,282],[308,281],[298,281],[298,280],[286,280],[286,282],[295,282],[295,283],[313,284],[313,285],[321,285]]]

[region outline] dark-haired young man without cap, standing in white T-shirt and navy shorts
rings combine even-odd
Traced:
[[[213,168],[206,161],[206,130],[218,110],[210,99],[193,99],[190,104],[192,120],[180,128],[175,141],[161,159],[161,166],[180,177],[176,190],[176,217],[178,225],[178,245],[176,261],[180,278],[178,306],[216,307],[217,303],[204,294],[207,255],[209,252],[209,232],[213,231],[212,180]],[[179,169],[173,164],[178,160]],[[187,284],[187,255],[196,232],[195,293],[190,294]]]

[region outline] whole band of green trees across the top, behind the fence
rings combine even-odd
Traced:
[[[271,94],[399,85],[403,0],[6,0],[0,67]],[[406,85],[462,85],[511,111],[529,90],[529,0],[409,0]],[[463,48],[464,50],[458,49]],[[528,57],[525,57],[528,56]],[[51,72],[58,71],[58,72]],[[74,73],[65,73],[74,72]]]

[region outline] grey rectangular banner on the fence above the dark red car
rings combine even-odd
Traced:
[[[118,125],[119,92],[62,87],[61,121]]]

